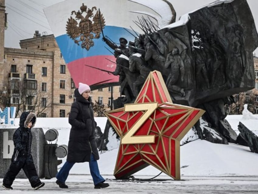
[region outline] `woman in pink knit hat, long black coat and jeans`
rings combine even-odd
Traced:
[[[65,181],[69,171],[77,162],[89,162],[90,174],[93,179],[94,188],[108,187],[105,179],[99,173],[97,160],[99,153],[95,141],[95,121],[91,106],[90,87],[79,83],[79,88],[74,91],[76,101],[71,106],[69,123],[71,124],[68,154],[63,167],[57,173],[56,183],[60,188],[68,188]]]

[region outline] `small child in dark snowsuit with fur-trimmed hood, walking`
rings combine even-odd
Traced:
[[[11,165],[3,179],[2,187],[4,189],[12,189],[11,185],[21,169],[23,169],[34,190],[45,185],[44,182],[40,181],[40,178],[37,175],[31,154],[31,128],[35,125],[36,118],[36,114],[33,112],[23,112],[20,117],[19,128],[16,129],[13,134],[13,143],[15,147],[12,154]]]

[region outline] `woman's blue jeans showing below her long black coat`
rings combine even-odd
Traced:
[[[68,162],[68,161],[65,162],[65,164],[62,166],[60,171],[56,174],[56,178],[58,179],[58,181],[65,183],[69,175],[69,171],[71,170],[74,164],[75,164],[74,162]],[[89,161],[89,170],[90,170],[90,174],[92,176],[94,185],[105,181],[105,179],[99,173],[98,162],[97,160],[94,160],[94,157],[92,154],[90,156],[90,161]]]

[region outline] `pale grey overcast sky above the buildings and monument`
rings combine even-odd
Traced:
[[[32,38],[35,30],[42,34],[53,34],[43,8],[63,0],[5,0],[8,13],[8,29],[5,30],[5,47],[20,48],[19,41]],[[85,0],[86,1],[86,0]],[[176,20],[183,14],[207,5],[214,0],[169,0],[176,11]],[[258,29],[258,0],[247,0]],[[258,48],[255,50],[258,55]]]

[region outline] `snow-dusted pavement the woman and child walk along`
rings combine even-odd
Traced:
[[[27,179],[16,179],[12,185],[13,190],[4,190],[0,188],[1,194],[63,194],[63,193],[90,193],[90,194],[125,194],[125,193],[205,193],[205,194],[216,194],[216,193],[258,193],[258,177],[257,176],[211,176],[211,177],[184,177],[181,176],[182,180],[175,181],[168,179],[168,176],[158,176],[155,180],[142,181],[142,180],[129,180],[120,181],[115,180],[111,175],[103,175],[106,178],[106,182],[110,184],[105,189],[94,189],[92,178],[90,175],[69,175],[66,184],[69,189],[60,189],[55,184],[55,178],[50,180],[44,180],[45,186],[37,191],[34,191]],[[139,176],[140,179],[152,178],[152,176]],[[2,179],[0,179],[2,184]]]

